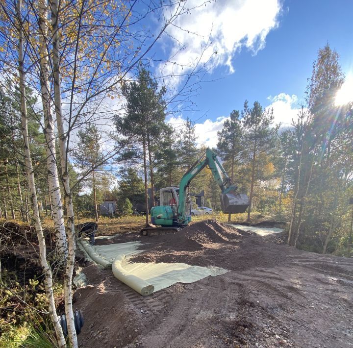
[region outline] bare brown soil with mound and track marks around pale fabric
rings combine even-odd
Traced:
[[[76,290],[85,324],[80,347],[351,347],[353,260],[278,245],[208,220],[161,236],[126,233],[99,244],[141,240],[134,258],[230,272],[142,297],[110,270],[85,268]],[[97,244],[98,244],[97,243]]]

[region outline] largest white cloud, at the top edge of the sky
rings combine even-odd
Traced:
[[[179,16],[167,29],[174,38],[170,52],[173,61],[160,66],[163,75],[185,74],[199,59],[207,68],[223,65],[233,73],[235,52],[246,48],[256,54],[263,49],[267,34],[278,26],[281,12],[279,0],[217,0],[202,6],[200,0],[189,0],[186,6],[191,14]]]

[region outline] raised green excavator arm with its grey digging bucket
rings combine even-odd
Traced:
[[[249,206],[248,196],[235,193],[237,187],[232,184],[227,172],[218,160],[216,153],[207,148],[202,157],[191,166],[180,180],[179,204],[177,211],[180,224],[186,222],[187,190],[190,182],[206,166],[210,168],[214,178],[221,188],[221,207],[224,213],[243,213]]]

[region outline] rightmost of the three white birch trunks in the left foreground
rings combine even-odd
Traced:
[[[59,70],[59,3],[58,0],[50,1],[51,9],[51,36],[52,36],[52,62],[53,62],[53,77],[54,77],[54,104],[56,122],[59,133],[59,148],[61,159],[62,183],[64,186],[64,198],[66,204],[67,216],[67,235],[68,235],[68,256],[66,264],[66,272],[64,275],[64,293],[65,293],[65,313],[68,324],[68,333],[70,345],[77,348],[77,336],[75,329],[75,319],[72,307],[72,277],[74,272],[74,262],[76,253],[76,238],[75,238],[75,223],[74,223],[74,206],[72,201],[72,194],[70,189],[67,151],[66,151],[66,137],[63,124],[63,115],[61,109],[61,89],[60,89],[60,70]]]

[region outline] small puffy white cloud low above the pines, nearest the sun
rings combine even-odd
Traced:
[[[300,105],[298,104],[298,97],[296,95],[290,96],[289,94],[280,93],[275,97],[269,96],[267,98],[271,101],[271,104],[266,108],[274,110],[274,123],[280,123],[283,127],[291,125],[292,120],[297,119],[297,115],[300,111]]]

